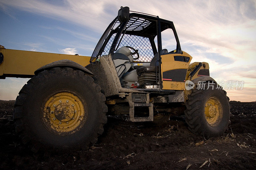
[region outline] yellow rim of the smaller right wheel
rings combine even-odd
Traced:
[[[217,97],[210,97],[204,107],[204,115],[210,126],[217,126],[222,120],[223,108]]]

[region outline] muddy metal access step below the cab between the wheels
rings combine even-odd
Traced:
[[[140,121],[153,121],[153,104],[149,103],[149,94],[146,93],[129,93],[126,97],[129,105],[129,115],[130,120],[132,122],[140,122]],[[136,111],[136,107],[146,107],[148,108],[148,117],[134,117],[134,111]],[[136,115],[136,113],[135,113]]]

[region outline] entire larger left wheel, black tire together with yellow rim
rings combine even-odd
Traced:
[[[34,152],[87,150],[107,122],[105,100],[100,86],[82,71],[43,71],[20,90],[13,113],[16,131]]]

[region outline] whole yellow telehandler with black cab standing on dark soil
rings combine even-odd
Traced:
[[[164,32],[175,50],[163,49]],[[88,149],[108,114],[161,123],[185,113],[188,128],[222,135],[230,109],[206,62],[190,64],[172,21],[121,7],[91,57],[0,47],[0,78],[31,78],[19,92],[13,119],[32,151]]]

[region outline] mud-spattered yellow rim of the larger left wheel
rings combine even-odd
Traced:
[[[87,106],[71,90],[62,90],[48,96],[43,104],[41,121],[55,135],[71,135],[83,127],[87,120]]]

